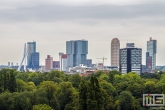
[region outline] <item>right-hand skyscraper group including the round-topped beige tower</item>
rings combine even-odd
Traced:
[[[150,38],[147,41],[145,72],[154,72],[156,69],[156,48],[157,41]],[[135,48],[134,43],[127,43],[126,48],[120,49],[120,41],[112,39],[111,66],[118,66],[122,73],[142,73],[142,49]]]

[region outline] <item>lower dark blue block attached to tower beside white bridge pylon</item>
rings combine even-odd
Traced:
[[[39,52],[32,53],[32,69],[39,69]]]

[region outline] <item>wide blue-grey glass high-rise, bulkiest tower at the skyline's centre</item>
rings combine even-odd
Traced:
[[[66,41],[67,67],[86,65],[88,54],[88,41]]]

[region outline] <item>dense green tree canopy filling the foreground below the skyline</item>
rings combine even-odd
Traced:
[[[88,77],[0,71],[0,110],[147,110],[143,94],[165,94],[165,73],[122,75],[98,71]]]

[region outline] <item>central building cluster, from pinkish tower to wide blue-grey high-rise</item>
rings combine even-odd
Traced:
[[[61,71],[68,71],[69,68],[78,66],[80,64],[87,65],[90,60],[87,60],[88,54],[88,41],[86,40],[75,40],[66,41],[66,54],[59,53],[59,66],[56,67],[57,63],[53,61],[53,57],[50,55],[45,59],[45,70],[58,69]]]

